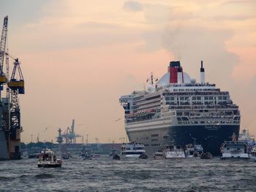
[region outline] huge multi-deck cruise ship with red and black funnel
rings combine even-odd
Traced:
[[[129,140],[143,143],[149,155],[170,142],[182,147],[197,142],[218,155],[222,143],[239,134],[238,106],[229,92],[206,82],[203,61],[200,82],[183,72],[180,61],[171,61],[161,79],[151,74],[143,91],[119,101]]]

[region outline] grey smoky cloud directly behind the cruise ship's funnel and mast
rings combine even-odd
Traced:
[[[238,56],[230,53],[225,46],[225,42],[232,35],[233,31],[225,29],[170,26],[165,31],[163,46],[173,53],[176,59],[181,59],[191,72],[195,72],[195,65],[199,66],[200,60],[206,61],[208,80],[221,84],[230,77],[233,67],[238,64]]]

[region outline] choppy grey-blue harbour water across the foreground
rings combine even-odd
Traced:
[[[256,191],[256,163],[108,156],[64,160],[37,168],[37,159],[0,161],[0,191]]]

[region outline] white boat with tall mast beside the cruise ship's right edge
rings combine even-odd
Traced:
[[[238,141],[236,134],[233,134],[232,141],[225,141],[221,147],[222,160],[225,159],[249,159],[248,145],[244,141]]]

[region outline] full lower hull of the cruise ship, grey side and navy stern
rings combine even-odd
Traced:
[[[160,145],[167,145],[170,141],[182,147],[196,142],[203,146],[204,152],[219,155],[222,143],[230,140],[233,133],[238,135],[239,129],[239,125],[168,126],[143,131],[127,130],[127,135],[130,140],[144,143],[148,155],[157,152]],[[152,137],[156,135],[157,137]]]

